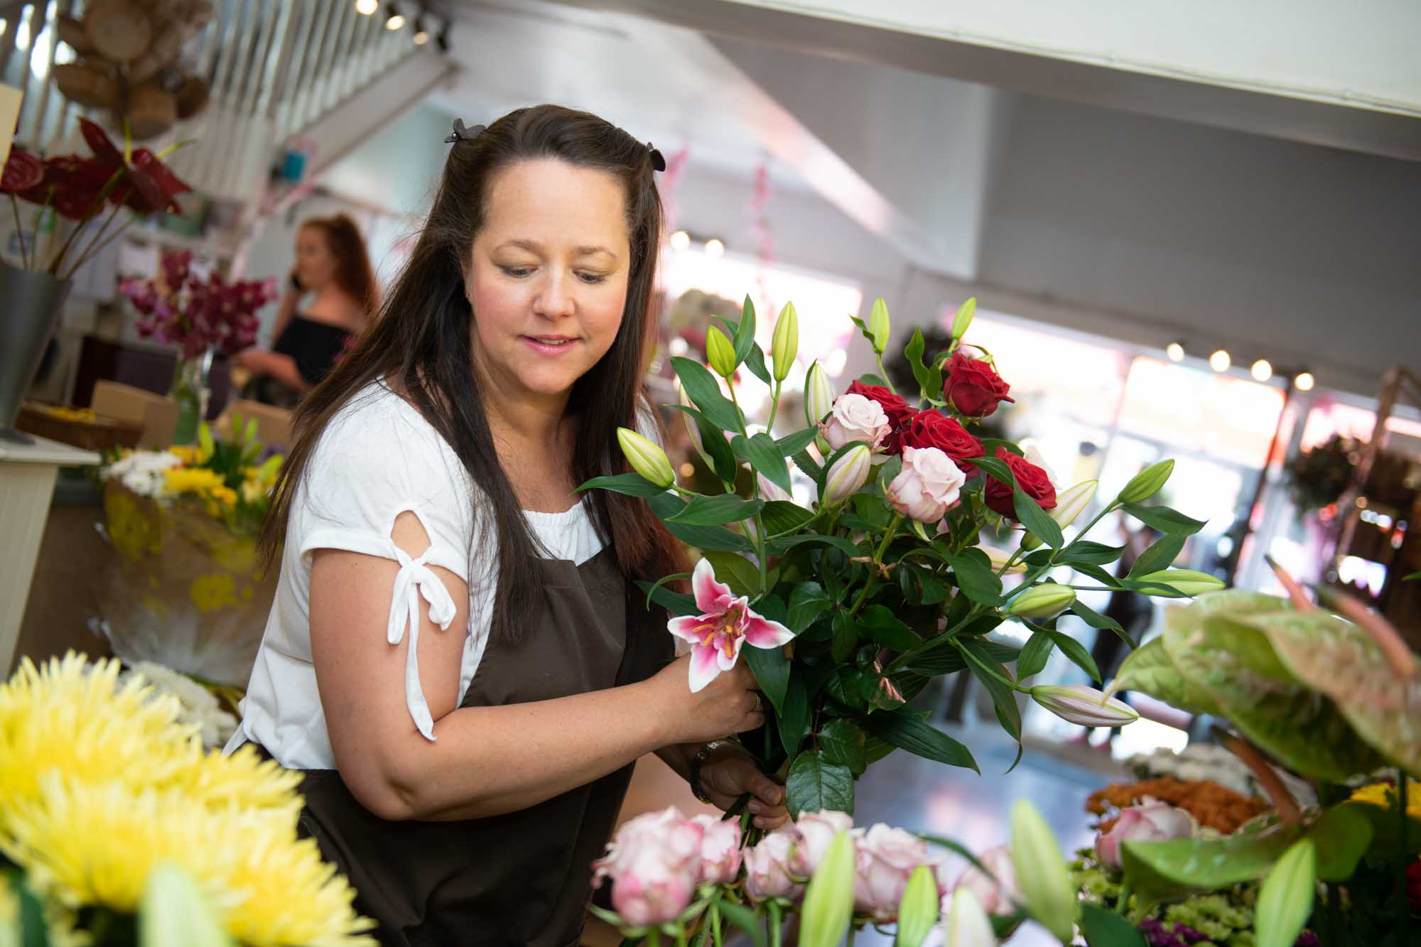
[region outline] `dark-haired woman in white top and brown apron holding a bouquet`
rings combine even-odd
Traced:
[[[553,105],[455,129],[381,319],[297,412],[233,745],[307,771],[301,825],[384,943],[573,944],[638,756],[762,828],[783,789],[715,745],[763,721],[745,663],[692,694],[631,583],[676,542],[574,492],[654,432],[659,154]]]

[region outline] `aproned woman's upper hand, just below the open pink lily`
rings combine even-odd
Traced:
[[[676,658],[649,683],[657,712],[665,714],[671,728],[668,744],[706,744],[764,724],[764,698],[745,661],[722,671],[695,694],[691,692],[691,656]]]

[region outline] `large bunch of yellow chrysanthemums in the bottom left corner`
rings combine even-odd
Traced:
[[[298,774],[205,751],[118,671],[70,653],[0,684],[0,943],[374,946],[297,838]]]

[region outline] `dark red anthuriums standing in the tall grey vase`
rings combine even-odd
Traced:
[[[94,152],[91,156],[53,155],[41,159],[11,148],[0,173],[0,192],[10,195],[16,228],[21,236],[24,269],[43,270],[61,280],[72,276],[74,270],[138,218],[165,210],[176,213],[176,196],[192,191],[162,162],[172,148],[153,154],[148,148],[134,149],[125,142],[124,151],[119,151],[104,129],[87,118],[80,118],[80,131]],[[47,263],[41,262],[38,246],[24,240],[20,200],[38,206],[36,226],[31,228],[34,230],[38,230],[40,219],[51,210],[75,223]],[[97,229],[90,228],[105,205],[111,206],[108,216]],[[112,229],[125,208],[131,212],[128,220]]]

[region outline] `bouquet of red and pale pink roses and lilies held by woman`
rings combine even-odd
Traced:
[[[1185,597],[1222,586],[1169,567],[1185,537],[1204,525],[1145,505],[1172,462],[1142,471],[1069,536],[1096,482],[1059,486],[1033,452],[972,434],[1012,401],[990,353],[963,340],[973,311],[975,300],[968,300],[953,320],[951,347],[929,363],[921,331],[914,333],[905,355],[918,390],[907,398],[877,375],[836,397],[824,371],[811,365],[807,427],[776,439],[769,429],[797,350],[797,314],[793,304],[780,313],[767,361],[746,300],[739,323],[708,330],[709,368],[671,360],[684,392],[675,407],[726,492],[684,489],[661,448],[625,429],[620,438],[631,471],[583,485],[647,498],[666,529],[702,552],[693,574],[648,584],[648,596],[669,609],[669,631],[691,647],[692,690],[742,657],[749,661],[767,698],[766,725],[740,739],[766,772],[784,776],[794,816],[851,813],[854,781],[895,748],[975,769],[971,751],[911,704],[944,674],[975,675],[1017,739],[1017,694],[1074,722],[1130,722],[1127,705],[1094,688],[1023,684],[1054,648],[1100,681],[1090,653],[1057,621],[1070,613],[1124,633],[1079,601],[1076,590]],[[890,334],[882,300],[867,324],[854,321],[881,365]],[[737,405],[733,380],[742,365],[772,388],[763,429]],[[742,465],[755,475],[749,496],[732,489]],[[791,465],[814,485],[809,503],[791,493]],[[1117,509],[1164,533],[1125,577],[1104,569],[1121,547],[1086,539]],[[985,535],[1017,542],[1002,547]],[[691,594],[666,584],[684,579],[691,579]],[[1009,620],[1030,633],[1020,651],[988,637]]]

